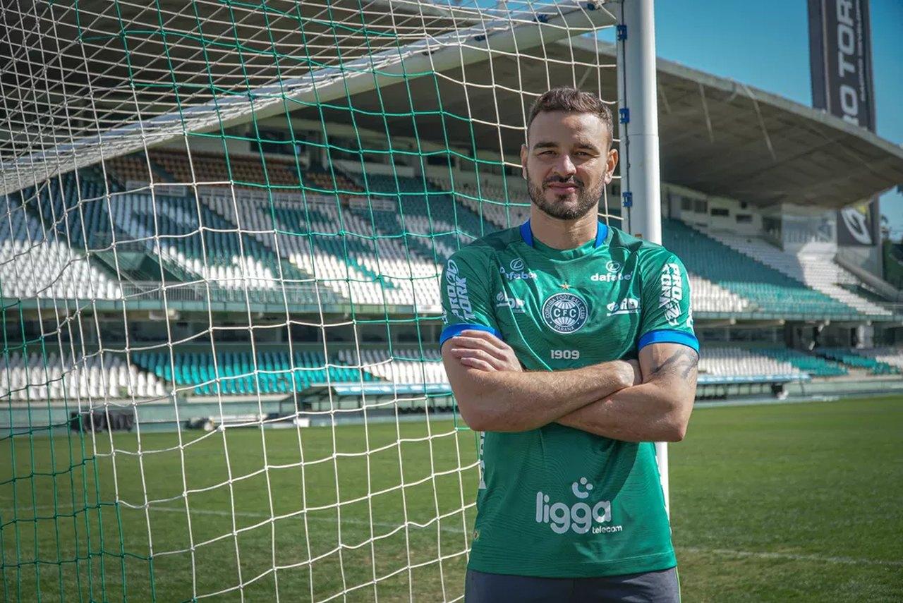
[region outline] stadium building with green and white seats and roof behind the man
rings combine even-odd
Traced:
[[[603,65],[615,49],[584,37],[545,59]],[[437,275],[458,246],[526,218],[528,99],[514,80],[538,89],[556,73],[540,61],[488,68],[449,79],[467,82],[466,98],[412,79],[12,191],[10,403],[171,406],[174,392],[252,408],[263,394],[265,409],[284,411],[327,383],[442,391]],[[692,274],[701,394],[898,375],[899,292],[868,253],[838,248],[833,210],[903,181],[903,151],[740,82],[658,69],[664,244]],[[573,78],[561,74],[548,83]],[[617,88],[615,70],[584,75]],[[380,108],[411,99],[414,119]],[[616,181],[600,204],[615,226],[620,192]],[[48,365],[74,373],[28,385]]]

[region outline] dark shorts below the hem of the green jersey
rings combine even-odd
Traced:
[[[607,578],[534,578],[467,571],[464,603],[680,603],[677,568]]]

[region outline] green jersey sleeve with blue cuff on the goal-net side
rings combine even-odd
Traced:
[[[486,330],[501,339],[492,306],[488,262],[458,251],[442,270],[442,335],[439,347],[464,329]]]

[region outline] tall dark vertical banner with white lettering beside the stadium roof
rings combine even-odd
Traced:
[[[869,0],[809,0],[813,107],[875,131]],[[880,242],[878,199],[837,212],[837,244]]]

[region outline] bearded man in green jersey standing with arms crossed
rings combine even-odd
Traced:
[[[684,437],[699,344],[684,264],[597,217],[611,130],[588,93],[538,98],[530,219],[442,274],[442,361],[480,431],[468,603],[679,600],[652,442]]]

